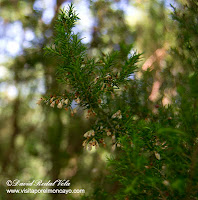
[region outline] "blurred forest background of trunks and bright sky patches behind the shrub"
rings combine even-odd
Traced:
[[[106,162],[113,154],[111,146],[91,152],[82,147],[83,134],[90,127],[84,115],[77,113],[72,117],[65,110],[36,104],[44,94],[54,94],[60,87],[54,76],[56,60],[45,57],[43,48],[51,43],[59,9],[70,2],[0,0],[1,200],[79,199],[79,194],[6,194],[5,183],[14,179],[22,182],[69,179],[71,189],[85,189],[88,195],[96,183],[103,184],[108,173]],[[84,38],[82,41],[87,44],[90,56],[119,50],[122,43],[133,43],[131,51],[143,53],[139,70],[131,77],[137,85],[140,83],[131,89],[134,113],[150,110],[159,115],[159,106],[175,103],[173,98],[178,95],[178,86],[188,96],[185,77],[197,69],[197,16],[194,24],[191,20],[191,14],[194,16],[197,10],[182,15],[189,26],[188,32],[182,32],[185,23],[174,20],[171,15],[174,9],[170,6],[173,4],[183,12],[187,1],[72,2],[81,18],[74,31]],[[192,8],[197,9],[196,6]],[[191,37],[192,43],[187,44],[189,51],[182,52],[180,47],[186,37]],[[193,98],[197,98],[196,85]],[[193,102],[188,98],[184,101],[187,102],[184,110],[187,110]],[[195,126],[189,113],[184,117],[192,125],[188,127]],[[116,190],[116,185],[113,189]]]

